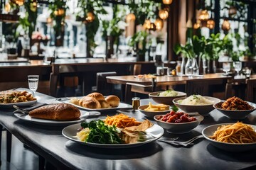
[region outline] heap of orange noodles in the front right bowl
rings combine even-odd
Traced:
[[[221,125],[210,138],[226,143],[253,143],[256,142],[256,132],[250,125],[238,122],[233,125]]]

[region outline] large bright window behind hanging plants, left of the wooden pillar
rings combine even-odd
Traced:
[[[80,2],[78,0],[23,1],[23,4],[15,4],[18,10],[16,14],[19,17],[16,20],[16,24],[4,21],[3,26],[0,26],[3,30],[6,30],[6,28],[14,28],[15,25],[17,32],[15,36],[18,36],[22,43],[26,41],[25,39],[27,37],[30,38],[31,52],[36,53],[39,51],[37,49],[38,42],[41,44],[40,47],[43,50],[43,55],[49,57],[53,55],[70,57],[74,54],[75,57],[86,57],[88,49],[85,47],[89,43],[87,41],[87,33],[92,30],[96,31],[90,42],[93,42],[92,56],[105,57],[107,55],[106,49],[109,50],[108,45],[110,44],[106,36],[110,34],[111,29],[116,29],[113,35],[115,37],[118,36],[118,40],[114,40],[114,45],[111,49],[112,52],[108,57],[134,57],[137,52],[135,48],[140,47],[141,44],[138,42],[139,46],[138,44],[132,46],[129,43],[130,39],[134,33],[145,30],[145,37],[142,37],[146,38],[146,47],[144,48],[144,55],[146,57],[144,60],[152,60],[151,57],[156,55],[161,55],[163,60],[167,60],[167,22],[166,18],[163,20],[160,19],[159,11],[165,9],[168,13],[168,10],[161,2],[149,0],[100,1],[100,5],[102,5],[102,8],[107,13],[99,13],[97,16],[91,16],[92,20],[97,17],[100,21],[95,29],[87,27],[90,21],[81,21],[80,11],[82,6]],[[91,2],[95,4],[96,1]],[[9,1],[6,0],[1,3],[1,13],[12,12],[6,11],[8,7],[6,4],[8,3]],[[131,5],[132,3],[134,3],[133,6]],[[13,5],[11,4],[11,10],[13,10]],[[29,8],[27,5],[33,8]],[[94,8],[96,11],[97,6]],[[31,11],[35,11],[32,14],[36,17],[36,23],[33,23],[33,33],[29,28],[30,26],[28,26],[31,23],[28,19],[31,16]],[[130,13],[135,13],[135,17],[137,17],[135,23],[132,23],[133,25],[130,22],[127,23],[127,17]],[[83,15],[87,14],[83,13]],[[57,21],[58,18],[61,18],[61,21]],[[150,21],[152,28],[144,28],[146,21]],[[106,28],[106,23],[109,24],[108,28]],[[6,35],[5,32],[2,34]],[[4,40],[1,40],[1,44],[2,42]],[[1,47],[3,46],[1,45]]]

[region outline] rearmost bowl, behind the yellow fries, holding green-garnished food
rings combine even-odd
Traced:
[[[186,96],[186,93],[181,91],[176,91],[178,93],[177,96],[158,96],[161,92],[163,91],[152,92],[149,94],[149,98],[152,98],[153,101],[155,101],[156,103],[174,105],[173,103],[174,98],[181,98]]]

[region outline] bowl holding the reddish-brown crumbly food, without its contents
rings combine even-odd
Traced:
[[[223,115],[226,115],[228,118],[234,119],[234,120],[245,119],[247,117],[247,115],[249,115],[250,113],[252,113],[253,111],[256,110],[256,104],[255,103],[251,103],[249,101],[247,101],[247,103],[250,104],[250,106],[254,107],[251,110],[245,110],[245,111],[225,110],[225,109],[221,108],[221,105],[222,105],[223,102],[224,101],[220,101],[218,103],[215,103],[215,105],[213,105],[213,107],[215,109],[217,109],[218,111],[220,111],[220,113],[223,113]]]

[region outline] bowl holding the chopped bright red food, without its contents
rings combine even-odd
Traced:
[[[159,126],[161,126],[161,128],[164,128],[165,130],[167,130],[167,132],[177,133],[177,134],[190,132],[191,130],[193,130],[193,128],[196,128],[203,120],[203,115],[200,115],[198,113],[194,113],[193,116],[192,115],[190,116],[190,117],[195,117],[197,120],[188,122],[188,123],[167,123],[167,122],[158,120],[157,118],[159,116],[160,115],[154,116],[154,120],[156,120],[156,123]]]

